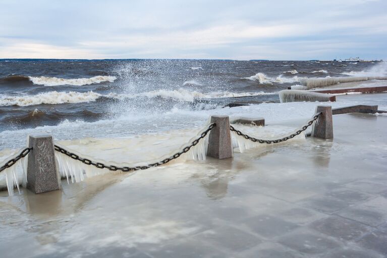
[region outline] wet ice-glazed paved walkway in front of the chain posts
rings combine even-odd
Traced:
[[[337,115],[333,141],[2,196],[1,257],[384,257],[385,128]]]

